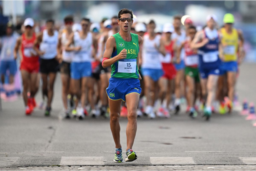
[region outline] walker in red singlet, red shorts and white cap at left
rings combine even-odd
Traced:
[[[34,96],[37,92],[37,81],[39,72],[39,56],[33,50],[36,33],[33,30],[34,21],[32,18],[27,18],[24,21],[25,32],[18,38],[15,49],[14,58],[17,59],[18,50],[21,50],[21,76],[23,82],[23,99],[26,107],[26,114],[29,115],[36,106]],[[30,88],[30,97],[27,92]]]

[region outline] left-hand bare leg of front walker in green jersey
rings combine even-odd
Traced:
[[[132,93],[133,94],[133,93]],[[122,100],[108,100],[110,106],[110,129],[116,144],[116,148],[121,148],[120,143],[120,112]]]

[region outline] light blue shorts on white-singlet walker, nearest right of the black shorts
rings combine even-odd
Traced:
[[[89,77],[92,74],[90,62],[71,62],[70,64],[71,78],[79,80],[83,77]]]

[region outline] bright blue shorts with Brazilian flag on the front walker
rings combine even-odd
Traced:
[[[108,98],[111,100],[126,101],[126,95],[130,93],[141,93],[140,81],[134,78],[114,78],[111,77],[106,89]]]

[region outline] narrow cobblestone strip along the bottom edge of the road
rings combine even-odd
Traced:
[[[0,170],[256,170],[256,165],[44,166],[0,167]]]

